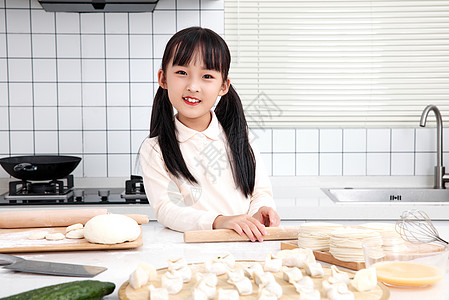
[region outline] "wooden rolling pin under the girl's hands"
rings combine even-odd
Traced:
[[[299,226],[267,227],[264,241],[272,240],[296,240],[298,239]],[[249,238],[239,235],[230,229],[197,230],[184,232],[185,243],[210,243],[210,242],[243,242]]]

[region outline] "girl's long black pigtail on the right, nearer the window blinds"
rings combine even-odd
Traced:
[[[245,196],[251,196],[256,177],[256,159],[249,144],[248,125],[242,101],[232,85],[217,104],[215,115],[228,139],[234,181]]]

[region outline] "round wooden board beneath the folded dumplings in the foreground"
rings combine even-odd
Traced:
[[[254,262],[239,261],[236,263],[236,268],[243,268],[245,266],[245,264],[248,264],[248,263],[254,263]],[[263,263],[261,263],[261,264],[263,265]],[[188,283],[184,283],[184,286],[183,286],[181,292],[179,292],[176,295],[170,295],[169,298],[171,300],[192,299],[193,288],[196,283],[195,279],[194,279],[196,277],[195,273],[205,272],[205,270],[204,270],[203,264],[193,264],[193,265],[189,265],[189,266],[192,270],[192,280],[190,280],[190,282],[188,282]],[[323,269],[324,269],[324,277],[323,278],[312,278],[312,279],[314,281],[315,289],[320,290],[320,292],[321,292],[321,296],[322,296],[321,299],[328,299],[327,297],[324,297],[325,294],[322,291],[322,281],[324,279],[329,278],[329,276],[331,274],[331,270],[329,267],[323,267]],[[167,272],[167,268],[159,269],[157,272],[158,272],[158,280],[151,282],[151,284],[153,284],[153,286],[155,286],[155,287],[160,287],[161,286],[160,277],[162,276],[162,274]],[[303,273],[304,273],[304,270],[303,270]],[[348,272],[348,273],[349,273],[350,278],[354,277],[353,273],[350,273],[350,272]],[[283,295],[280,299],[299,299],[299,294],[296,292],[294,286],[282,278],[283,277],[282,272],[273,273],[273,275],[275,276],[276,281],[282,287]],[[149,285],[150,285],[150,283],[135,290],[129,285],[129,282],[126,281],[120,286],[120,289],[118,291],[119,298],[120,298],[120,300],[147,300],[147,299],[149,299],[149,291],[148,291]],[[230,283],[227,282],[226,274],[218,276],[217,290],[218,290],[218,288],[235,289],[233,285],[231,285]],[[383,285],[380,282],[377,283],[377,286],[375,289],[373,289],[372,291],[369,291],[369,292],[358,292],[352,286],[348,286],[348,288],[351,292],[354,293],[356,300],[387,300],[390,297],[389,290],[387,289],[387,287],[385,285]],[[247,296],[240,296],[240,299],[257,299],[257,291],[258,291],[258,287],[256,286],[256,284],[253,281],[253,293],[251,295],[247,295]],[[215,299],[217,299],[217,297]]]

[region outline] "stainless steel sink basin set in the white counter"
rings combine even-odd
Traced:
[[[449,202],[449,189],[322,188],[336,202]]]

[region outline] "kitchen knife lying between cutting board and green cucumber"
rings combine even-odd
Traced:
[[[26,260],[14,255],[0,254],[3,268],[19,272],[50,274],[73,277],[94,277],[107,268],[37,260]]]

